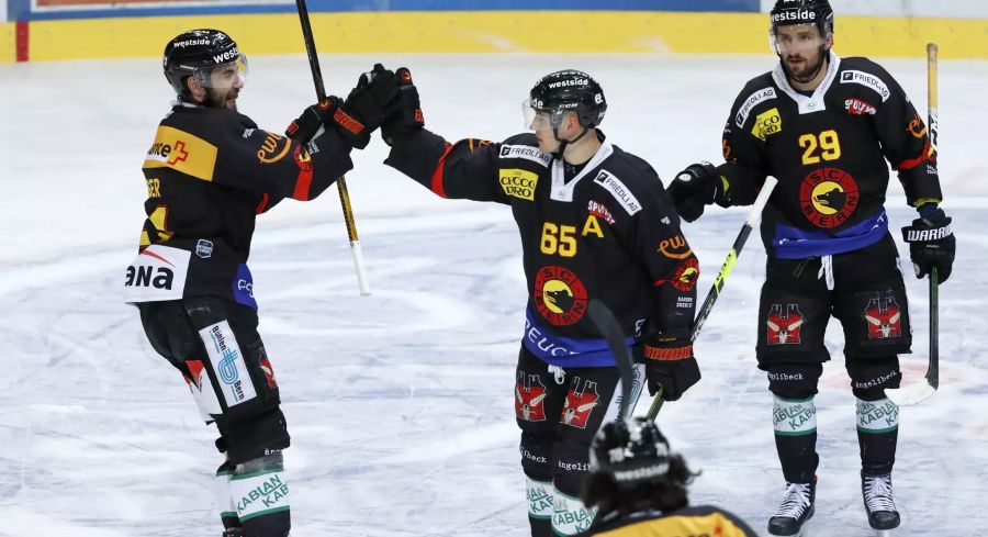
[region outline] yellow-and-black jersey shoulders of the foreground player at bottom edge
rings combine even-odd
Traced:
[[[755,537],[757,534],[737,516],[707,505],[672,513],[642,512],[604,518],[580,537]]]

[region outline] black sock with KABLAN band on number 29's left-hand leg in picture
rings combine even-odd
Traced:
[[[783,399],[775,395],[772,410],[775,449],[783,476],[789,483],[809,483],[817,465],[817,406],[813,398]]]

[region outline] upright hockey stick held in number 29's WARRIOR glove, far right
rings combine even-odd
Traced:
[[[927,45],[927,123],[930,132],[930,147],[936,150],[936,135],[940,128],[936,112],[936,52],[935,43]],[[927,365],[927,381],[905,388],[885,390],[885,396],[899,406],[921,403],[936,393],[940,387],[940,275],[936,267],[930,271],[930,357]]]

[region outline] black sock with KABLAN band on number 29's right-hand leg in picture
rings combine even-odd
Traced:
[[[899,407],[888,399],[857,400],[857,444],[864,476],[891,473],[899,438]]]

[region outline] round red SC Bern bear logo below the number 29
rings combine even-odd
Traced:
[[[838,168],[813,170],[799,188],[802,214],[817,227],[832,228],[843,224],[857,209],[857,183]]]

